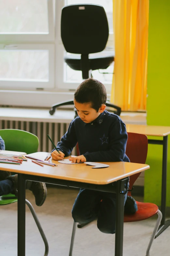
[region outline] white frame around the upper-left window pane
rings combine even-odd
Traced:
[[[48,33],[0,33],[1,43],[21,43],[21,42],[54,42],[55,40],[55,21],[53,11],[53,1],[47,0],[48,2]],[[57,0],[56,0],[57,1]]]

